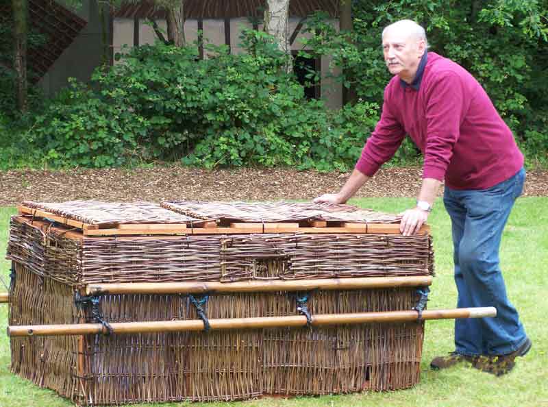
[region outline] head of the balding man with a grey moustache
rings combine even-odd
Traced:
[[[419,24],[400,20],[382,31],[382,49],[388,71],[411,83],[428,47],[426,34]]]

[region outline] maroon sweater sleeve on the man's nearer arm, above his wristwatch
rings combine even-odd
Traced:
[[[470,105],[465,85],[457,73],[442,72],[426,90],[427,134],[423,178],[443,181],[453,147],[460,136],[460,125]]]

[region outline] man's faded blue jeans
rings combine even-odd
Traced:
[[[445,187],[443,203],[451,217],[457,306],[497,308],[495,318],[455,320],[455,350],[460,354],[508,354],[527,339],[518,312],[506,296],[499,267],[502,231],[524,182],[522,168],[488,189]]]

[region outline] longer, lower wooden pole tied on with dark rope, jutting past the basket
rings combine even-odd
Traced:
[[[356,314],[317,314],[312,315],[312,325],[348,325],[357,323],[395,323],[414,322],[416,311],[360,312]],[[425,310],[422,318],[456,319],[496,317],[494,307],[457,308],[453,310]],[[306,317],[293,315],[288,317],[227,318],[210,319],[211,330],[245,330],[262,328],[285,328],[306,326]],[[155,332],[203,331],[203,321],[149,321],[110,323],[112,334],[149,334]],[[67,325],[12,325],[8,327],[8,336],[63,336],[105,334],[107,329],[101,323],[77,323]]]

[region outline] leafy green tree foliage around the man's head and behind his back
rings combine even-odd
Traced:
[[[431,51],[458,62],[484,86],[527,160],[547,161],[547,1],[354,1],[353,14],[354,32],[347,33],[316,13],[308,19],[305,46],[314,49],[306,53],[332,55],[332,75],[361,100],[379,103],[388,82],[382,28],[410,18],[425,27]]]

